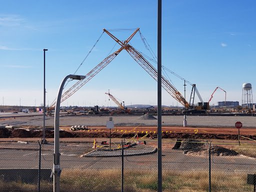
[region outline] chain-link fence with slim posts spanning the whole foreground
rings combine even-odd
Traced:
[[[0,142],[0,191],[53,191],[53,142]],[[157,139],[62,141],[61,191],[157,191]],[[163,191],[253,191],[254,140],[162,139]],[[40,178],[40,179],[39,179]]]

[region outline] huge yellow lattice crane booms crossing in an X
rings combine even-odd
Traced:
[[[99,64],[97,64],[90,72],[85,75],[85,78],[77,81],[73,86],[71,86],[68,90],[66,90],[62,95],[60,102],[67,99],[74,92],[76,92],[81,86],[83,86],[88,80],[90,80],[93,76],[95,76],[101,69],[103,69],[115,56],[119,54],[123,49],[126,50],[131,57],[150,75],[157,81],[157,70],[142,56],[140,52],[138,52],[135,48],[133,48],[128,42],[135,35],[139,28],[137,28],[126,40],[120,41],[118,38],[113,36],[109,31],[103,29],[111,38],[113,38],[116,43],[118,43],[121,47],[103,59]],[[141,37],[142,38],[142,37]],[[162,87],[178,102],[185,106],[185,108],[190,108],[190,104],[185,100],[185,98],[180,94],[180,92],[164,77],[161,76]],[[54,101],[49,107],[48,111],[55,107]]]

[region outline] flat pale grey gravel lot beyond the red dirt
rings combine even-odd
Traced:
[[[140,119],[141,115],[112,115],[115,126],[157,126],[157,119]],[[154,116],[157,117],[157,116]],[[60,115],[60,125],[106,126],[109,116]],[[183,115],[162,116],[162,126],[183,126]],[[233,127],[236,121],[243,127],[256,127],[255,116],[187,116],[187,126]],[[0,125],[42,126],[43,115],[0,118]],[[48,116],[46,126],[54,126],[54,116]]]

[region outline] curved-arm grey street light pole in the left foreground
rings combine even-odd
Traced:
[[[57,94],[57,99],[55,104],[55,115],[54,115],[53,192],[60,191],[59,178],[60,178],[61,169],[60,169],[60,162],[59,162],[59,156],[60,156],[60,153],[59,153],[59,111],[60,109],[59,107],[60,107],[62,90],[65,84],[65,81],[68,78],[81,80],[81,79],[84,79],[85,76],[69,74],[62,80],[58,89],[58,94]]]

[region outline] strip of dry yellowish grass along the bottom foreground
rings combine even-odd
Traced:
[[[253,185],[246,184],[246,173],[213,171],[212,191],[252,191]],[[52,191],[52,182],[41,182],[42,191]],[[121,189],[120,169],[63,169],[60,176],[61,191],[112,191]],[[163,171],[162,188],[169,191],[208,191],[207,171]],[[0,191],[37,191],[37,184],[4,182],[0,180]],[[124,170],[124,191],[157,191],[156,170]]]

